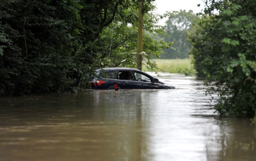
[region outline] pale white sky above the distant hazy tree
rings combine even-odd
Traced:
[[[166,11],[179,11],[181,9],[186,11],[193,10],[193,13],[198,13],[204,8],[203,0],[156,0],[154,4],[157,7],[155,12],[158,14],[163,14]],[[200,7],[197,4],[200,4]],[[159,25],[164,26],[167,19],[160,20]]]

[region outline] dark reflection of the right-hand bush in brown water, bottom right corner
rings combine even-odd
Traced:
[[[256,131],[249,120],[222,119],[216,123],[218,129],[212,130],[212,139],[206,143],[208,160],[256,160]]]

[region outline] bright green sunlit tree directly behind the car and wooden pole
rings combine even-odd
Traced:
[[[137,32],[138,32],[138,2],[130,1],[129,7],[121,5],[123,14],[116,15],[113,23],[104,28],[99,39],[102,43],[102,50],[99,52],[100,67],[134,67],[136,68]],[[151,10],[154,6],[144,2],[144,8]],[[145,10],[144,10],[145,12]],[[143,65],[147,68],[157,68],[156,63],[151,59],[159,57],[162,48],[171,47],[172,43],[164,40],[155,40],[150,34],[163,34],[161,26],[157,25],[160,18],[166,15],[154,15],[146,12],[144,14],[144,35],[143,35]],[[112,40],[112,42],[111,42]]]

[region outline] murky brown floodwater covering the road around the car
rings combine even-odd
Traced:
[[[256,160],[255,125],[220,119],[203,80],[159,80],[177,89],[1,98],[0,161]]]

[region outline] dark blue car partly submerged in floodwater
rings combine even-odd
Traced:
[[[175,89],[135,68],[102,68],[95,72],[92,89]]]

